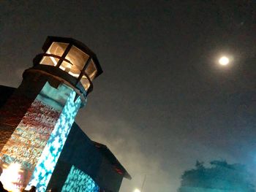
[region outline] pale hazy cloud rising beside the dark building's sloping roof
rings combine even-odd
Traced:
[[[140,140],[135,137],[136,129],[131,123],[122,120],[106,120],[102,117],[88,119],[94,123],[93,126],[84,128],[86,134],[91,139],[107,145],[132,176],[132,180],[123,180],[120,192],[132,192],[135,188],[141,188],[145,177],[143,191],[176,191],[177,183],[179,183],[177,177],[171,177],[167,171],[162,169],[161,157],[154,154],[146,155],[143,152]],[[80,125],[85,124],[80,123]]]

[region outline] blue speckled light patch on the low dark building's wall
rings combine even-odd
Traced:
[[[61,192],[99,192],[99,186],[91,177],[72,166]]]

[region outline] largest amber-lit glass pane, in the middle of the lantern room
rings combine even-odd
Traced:
[[[89,55],[84,53],[82,50],[78,49],[78,47],[72,46],[65,58],[68,61],[70,61],[71,64],[69,64],[67,61],[63,61],[60,66],[60,69],[64,70],[65,72],[68,72],[74,77],[79,77],[79,74],[83,69],[83,66],[89,59]]]

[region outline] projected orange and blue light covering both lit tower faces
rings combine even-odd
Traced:
[[[65,84],[53,88],[46,82],[1,150],[2,164],[18,163],[26,172],[23,185],[30,180],[37,191],[45,191],[80,108],[80,97],[75,96]]]

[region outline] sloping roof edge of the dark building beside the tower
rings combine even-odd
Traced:
[[[110,164],[113,165],[113,168],[116,170],[118,174],[122,174],[128,180],[132,179],[127,170],[124,169],[124,166],[121,165],[121,163],[118,161],[118,159],[115,157],[115,155],[113,155],[113,153],[108,149],[106,145],[103,145],[99,142],[94,142],[94,145],[99,149],[99,152],[102,153],[102,155],[108,158],[108,161],[110,161]]]

